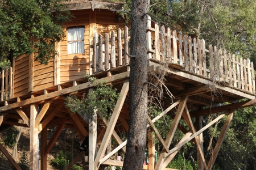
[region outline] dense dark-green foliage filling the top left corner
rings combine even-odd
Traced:
[[[0,59],[33,53],[41,63],[55,57],[55,42],[69,20],[64,0],[3,0],[0,5]],[[54,11],[54,12],[53,12]]]

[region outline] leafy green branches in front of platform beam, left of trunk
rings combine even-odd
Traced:
[[[65,105],[72,113],[82,113],[86,115],[93,115],[97,111],[98,116],[109,117],[108,111],[113,111],[115,103],[120,97],[117,89],[112,86],[107,86],[103,82],[95,83],[95,79],[88,76],[91,83],[95,84],[93,91],[89,94],[83,94],[79,99],[76,95],[67,96]]]

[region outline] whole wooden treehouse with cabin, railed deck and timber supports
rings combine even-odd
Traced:
[[[81,139],[89,134],[89,143],[102,141],[97,153],[96,146],[89,145],[89,169],[98,169],[101,164],[123,165],[121,161],[109,159],[121,148],[125,152],[126,141],[119,138],[118,129],[129,129],[129,103],[125,103],[125,99],[129,98],[130,60],[126,54],[129,53],[129,28],[125,26],[125,20],[113,12],[121,9],[122,5],[94,1],[67,2],[75,18],[63,27],[67,37],[56,44],[59,56],[45,66],[34,61],[33,54],[24,54],[13,60],[12,68],[2,71],[0,131],[13,125],[30,128],[30,169],[38,169],[38,152],[40,169],[47,169],[47,154],[63,128],[75,129]],[[212,169],[234,111],[256,104],[253,62],[212,45],[206,47],[204,40],[191,39],[181,32],[161,27],[151,22],[150,17],[146,31],[148,73],[158,74],[166,70],[164,83],[175,98],[174,103],[170,103],[170,107],[159,116],[152,120],[148,117],[148,125],[155,130],[163,150],[155,163],[155,146],[149,141],[150,164],[143,165],[143,169],[168,169],[166,166],[177,151],[191,140],[197,146],[199,169]],[[163,63],[168,68],[163,67]],[[94,85],[84,78],[84,74],[113,84],[121,92],[109,122],[91,117],[88,123],[79,113],[72,114],[65,108],[65,96],[81,96],[93,88]],[[221,95],[212,95],[213,90]],[[175,113],[175,116],[164,141],[154,122],[168,112]],[[221,114],[202,127],[201,116],[212,113]],[[228,118],[213,155],[206,162],[202,132],[226,114]],[[196,118],[195,125],[192,124],[192,117]],[[187,122],[189,131],[178,124],[180,118]],[[100,123],[108,124],[107,128],[98,129],[96,124]],[[47,143],[47,128],[52,126],[56,126],[57,130]],[[169,148],[177,128],[185,135],[178,145]],[[105,156],[111,136],[119,146]],[[1,144],[0,150],[16,169],[21,169]],[[77,162],[82,155],[84,152],[73,162]]]

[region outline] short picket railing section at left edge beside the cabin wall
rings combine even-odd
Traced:
[[[2,70],[1,74],[1,101],[13,98],[13,68]]]

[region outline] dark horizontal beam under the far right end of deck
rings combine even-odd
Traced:
[[[250,106],[253,106],[253,105],[256,105],[256,99],[250,100],[250,101],[242,101],[240,103],[222,105],[220,107],[213,107],[213,108],[193,111],[193,112],[190,113],[190,116],[191,117],[204,116],[204,115],[212,114],[212,113],[225,112],[225,111],[228,111],[229,109],[239,109],[239,108],[250,107]]]

